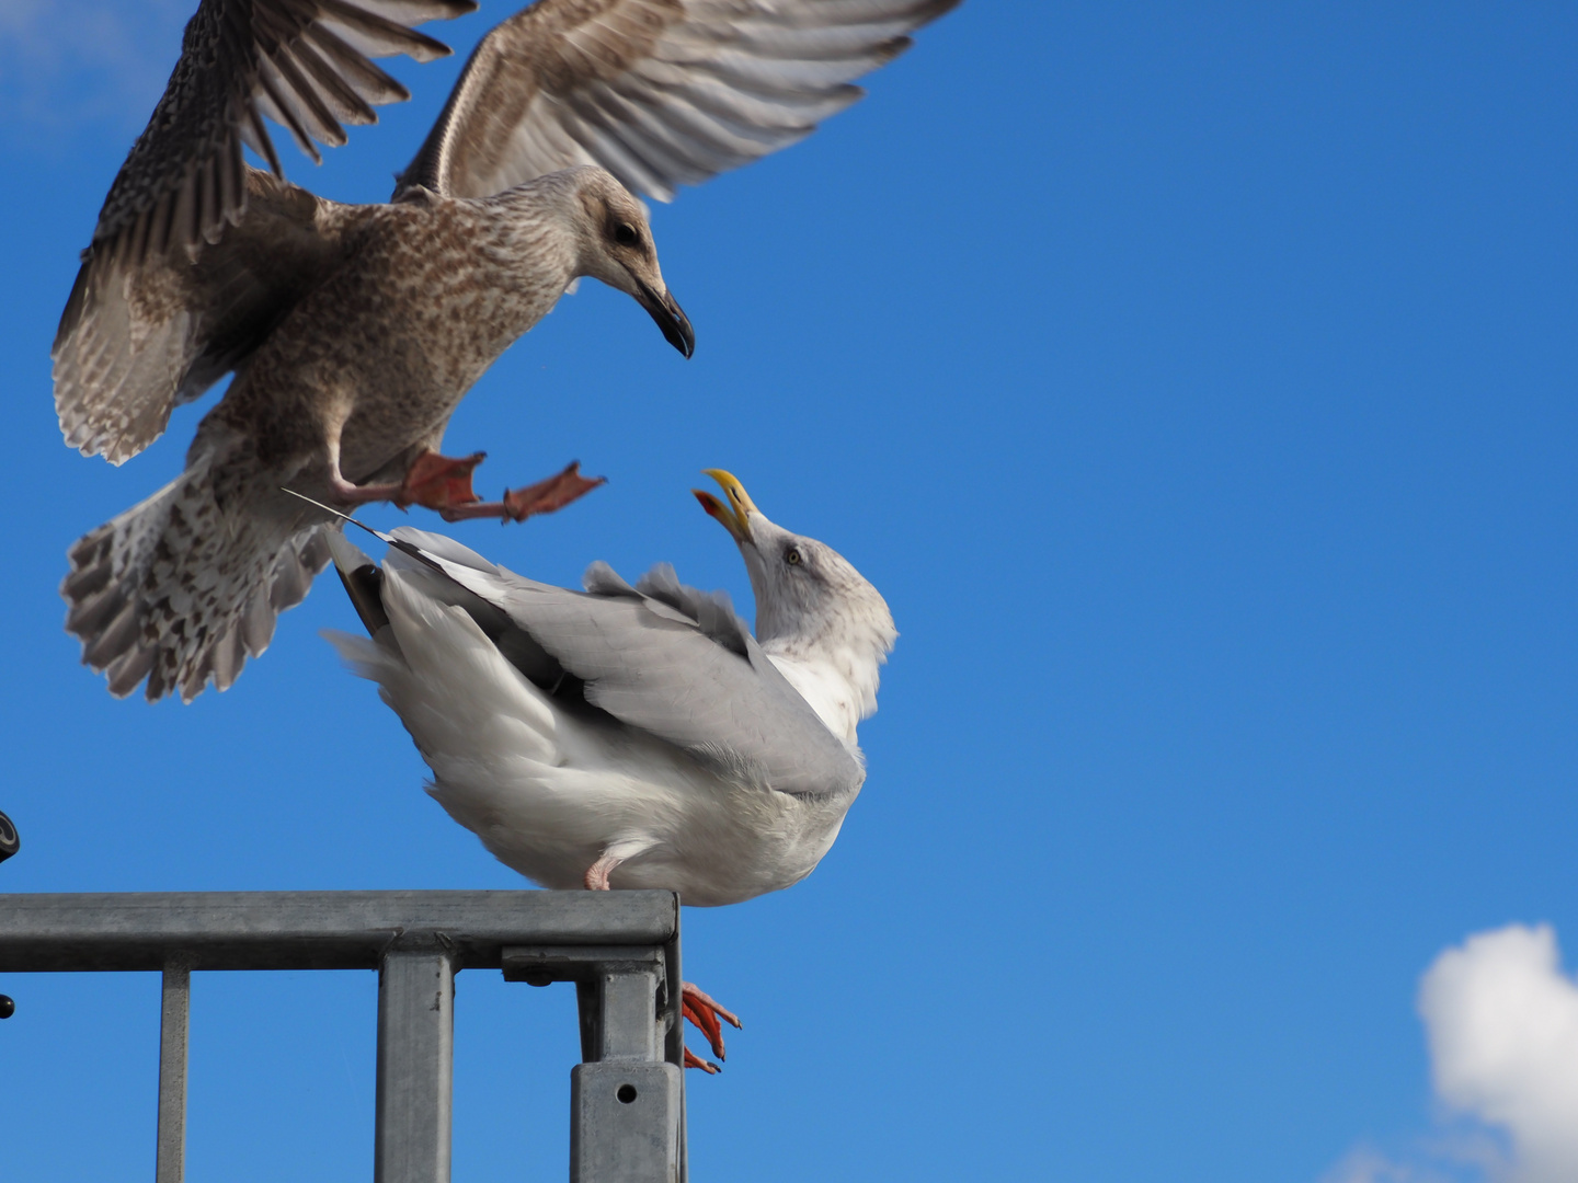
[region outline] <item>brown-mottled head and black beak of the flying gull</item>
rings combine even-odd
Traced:
[[[601,279],[633,297],[674,349],[685,356],[694,353],[696,333],[690,317],[663,282],[647,207],[603,169],[584,166],[568,172],[574,174],[578,197],[578,274]]]

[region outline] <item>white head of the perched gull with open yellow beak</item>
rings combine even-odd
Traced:
[[[773,655],[832,661],[862,691],[869,680],[874,710],[876,667],[898,639],[887,601],[827,543],[770,522],[734,475],[704,472],[723,487],[723,498],[693,492],[745,558],[756,593],[756,640]]]

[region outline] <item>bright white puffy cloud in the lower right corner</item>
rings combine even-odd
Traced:
[[[1438,1096],[1505,1133],[1509,1183],[1578,1180],[1578,983],[1548,924],[1436,957],[1419,991]]]

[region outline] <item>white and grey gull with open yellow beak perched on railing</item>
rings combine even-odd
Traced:
[[[727,500],[696,497],[739,543],[756,636],[666,563],[634,587],[593,563],[571,592],[440,535],[379,535],[382,568],[325,535],[371,634],[330,639],[379,683],[439,803],[543,886],[702,907],[778,891],[811,874],[865,781],[855,726],[898,637],[887,603],[709,475]],[[690,984],[685,1002],[721,1057],[716,1016],[737,1021]]]

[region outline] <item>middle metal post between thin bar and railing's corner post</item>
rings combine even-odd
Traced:
[[[391,950],[379,968],[374,1183],[450,1183],[454,962]]]

